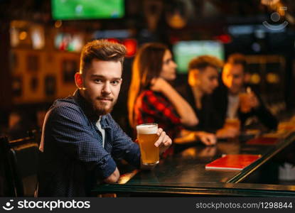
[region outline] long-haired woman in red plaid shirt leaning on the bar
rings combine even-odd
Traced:
[[[200,140],[213,145],[215,136],[202,131],[188,131],[198,118],[191,106],[169,82],[176,79],[176,63],[170,50],[161,43],[146,43],[136,54],[129,88],[129,121],[132,127],[157,123],[177,143]]]

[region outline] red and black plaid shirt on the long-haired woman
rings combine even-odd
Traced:
[[[141,92],[134,105],[134,116],[136,125],[156,123],[172,139],[176,138],[181,130],[181,119],[176,109],[161,92]]]

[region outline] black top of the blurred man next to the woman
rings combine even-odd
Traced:
[[[193,90],[189,84],[183,84],[176,88],[181,96],[186,99],[188,104],[193,107],[196,116],[199,119],[199,123],[194,127],[186,127],[186,129],[191,129],[194,131],[208,131],[215,133],[218,129],[222,127],[222,121],[218,112],[213,106],[213,100],[210,95],[204,95],[201,99],[202,108],[198,109],[195,104],[195,97],[193,95]]]

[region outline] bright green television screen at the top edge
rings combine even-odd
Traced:
[[[51,0],[53,19],[122,18],[124,0]]]

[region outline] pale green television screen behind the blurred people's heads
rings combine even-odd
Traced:
[[[197,56],[213,55],[224,60],[224,48],[215,40],[183,40],[173,45],[173,55],[178,73],[187,73],[188,63]]]

